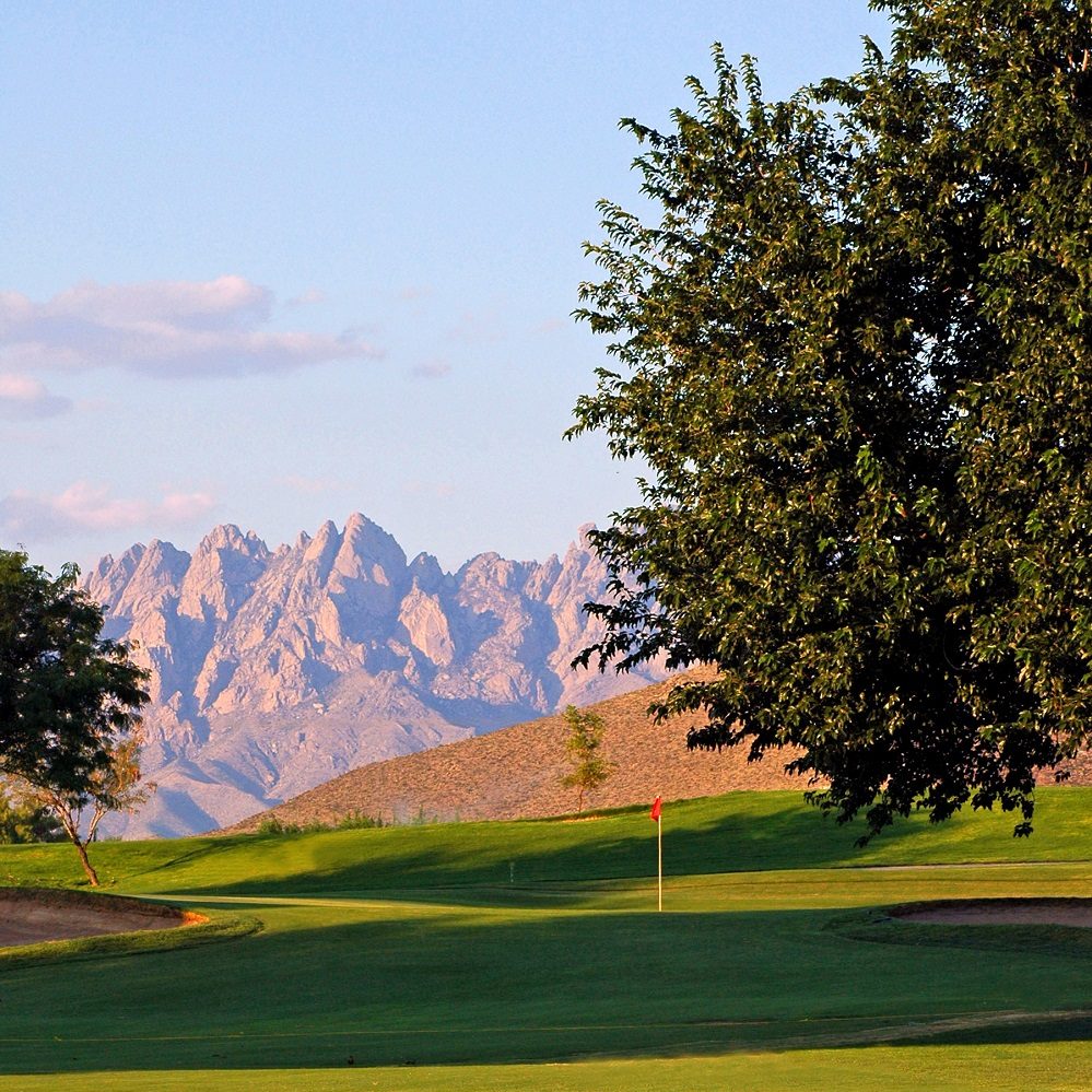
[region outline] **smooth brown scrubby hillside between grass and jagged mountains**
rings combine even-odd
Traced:
[[[688,751],[686,731],[704,724],[704,718],[691,714],[657,725],[647,713],[670,685],[668,680],[589,706],[606,721],[603,750],[617,768],[606,785],[588,795],[586,807],[650,803],[657,794],[680,800],[733,789],[807,788],[805,778],[785,773],[789,752],[749,763],[745,747],[719,754]],[[565,737],[559,714],[374,762],[225,827],[224,833],[254,831],[271,817],[303,825],[337,823],[352,812],[385,822],[565,814],[577,803],[576,790],[561,785],[572,768]]]

